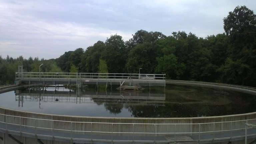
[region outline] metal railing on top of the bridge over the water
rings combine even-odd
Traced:
[[[81,79],[159,79],[164,80],[165,74],[119,74],[119,73],[79,73]],[[16,79],[22,78],[76,78],[77,73],[38,73],[38,72],[16,72]]]

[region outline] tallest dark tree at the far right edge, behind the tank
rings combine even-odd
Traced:
[[[246,6],[237,6],[223,21],[229,45],[228,58],[218,69],[222,82],[256,86],[256,15]]]

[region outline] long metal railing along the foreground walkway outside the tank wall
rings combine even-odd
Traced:
[[[71,140],[82,140],[82,141],[111,141],[111,142],[191,142],[197,141],[215,141],[215,140],[231,140],[235,138],[241,138],[245,136],[255,136],[253,134],[244,135],[232,135],[236,131],[245,131],[250,129],[245,127],[245,123],[256,124],[256,119],[238,120],[238,121],[227,121],[227,122],[212,122],[212,123],[104,123],[104,122],[75,122],[75,121],[59,121],[50,119],[36,119],[27,118],[20,116],[12,116],[0,114],[0,130],[4,130],[7,133],[15,132],[17,134],[29,134],[35,136],[52,137],[59,139],[71,139]],[[24,124],[26,123],[26,124]],[[5,125],[5,126],[3,126]],[[10,126],[16,126],[16,129],[10,129]],[[74,128],[77,129],[74,129]],[[145,130],[147,127],[147,131]],[[161,130],[161,128],[168,128],[167,131]],[[188,128],[187,132],[184,128]],[[191,130],[193,127],[193,130]],[[204,130],[207,127],[207,130]],[[23,128],[33,129],[34,133],[28,133],[22,130]],[[84,130],[82,130],[82,128]],[[120,130],[120,129],[123,129]],[[144,129],[143,129],[144,128]],[[44,130],[47,134],[39,133],[39,130]],[[56,136],[54,133],[64,133],[65,135]],[[216,138],[217,134],[228,132],[230,135],[227,137]],[[69,134],[69,136],[67,136]],[[77,134],[87,135],[88,138],[77,138]],[[203,138],[203,135],[211,134],[213,138]],[[96,137],[96,135],[105,135],[106,137]],[[138,140],[137,136],[148,136],[154,139],[151,140]],[[172,135],[172,140],[158,140],[159,136]],[[196,140],[179,140],[177,135],[195,136]],[[130,139],[115,139],[118,136],[129,136]],[[93,138],[95,137],[95,138]]]

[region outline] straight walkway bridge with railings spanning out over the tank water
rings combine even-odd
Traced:
[[[165,74],[16,72],[16,84],[165,86]]]

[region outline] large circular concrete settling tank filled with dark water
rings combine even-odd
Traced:
[[[0,120],[67,133],[79,131],[83,135],[92,135],[91,131],[94,131],[110,136],[111,142],[118,142],[111,139],[112,136],[129,137],[136,133],[136,137],[157,135],[167,143],[178,142],[178,135],[184,138],[187,134],[186,140],[198,142],[192,139],[198,132],[235,131],[244,129],[245,123],[256,124],[254,88],[190,81],[166,83],[166,87],[145,87],[143,91],[120,91],[116,89],[118,86],[113,86],[112,90],[105,86],[99,86],[98,90],[88,86],[81,91],[28,87],[15,90],[15,94],[12,90],[0,95]],[[25,138],[20,136],[21,141],[29,144],[38,140],[28,138],[26,134],[22,136]],[[5,136],[11,143],[13,140],[8,138]],[[131,141],[122,142],[133,143],[134,136],[130,138]],[[59,139],[75,142],[70,137]],[[52,137],[50,140],[58,139]],[[226,140],[230,141],[230,138]],[[90,138],[89,141],[107,140]],[[208,141],[212,142],[212,139]],[[157,141],[152,139],[150,142]]]

